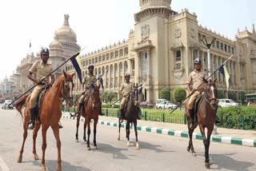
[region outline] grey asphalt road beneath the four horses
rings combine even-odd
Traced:
[[[79,142],[75,141],[75,121],[62,120],[60,130],[62,141],[62,170],[206,170],[204,166],[204,146],[194,140],[197,157],[186,151],[188,139],[138,131],[141,149],[127,147],[125,129],[121,141],[117,140],[118,128],[98,125],[98,149],[87,150],[82,140],[83,123],[80,123]],[[18,163],[18,153],[22,145],[22,117],[14,109],[0,109],[0,170],[40,170],[42,158],[41,129],[38,132],[38,161],[32,153],[32,131],[26,139],[22,163]],[[134,142],[134,131],[131,131]],[[92,140],[91,135],[90,140]],[[91,142],[92,145],[92,142]],[[135,144],[134,144],[135,145]],[[256,170],[256,148],[225,145],[211,142],[209,170]],[[46,167],[55,170],[57,165],[56,141],[51,129],[47,132]]]

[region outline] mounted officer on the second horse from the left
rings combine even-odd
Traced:
[[[94,89],[94,86],[97,86],[96,84],[97,78],[94,75],[94,65],[89,64],[88,70],[89,70],[89,74],[87,74],[86,77],[83,78],[83,82],[82,82],[82,96],[78,100],[79,101],[78,109],[77,109],[78,113],[80,113],[85,97],[90,93],[90,89]],[[102,113],[102,103],[101,103],[99,115],[105,115],[104,113]]]

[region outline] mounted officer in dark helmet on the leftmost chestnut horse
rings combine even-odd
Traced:
[[[38,95],[40,91],[46,84],[51,86],[54,84],[54,81],[55,81],[54,74],[50,74],[52,73],[54,68],[50,63],[47,63],[49,59],[49,54],[50,53],[48,48],[42,48],[41,50],[42,61],[34,62],[33,66],[31,66],[29,70],[29,74],[27,75],[27,78],[29,78],[32,82],[36,84],[30,97],[30,121],[27,123],[28,125],[27,129],[34,129],[35,117],[38,117],[38,109],[36,107],[36,101],[38,99]],[[33,74],[36,75],[36,78],[34,78]],[[49,77],[46,78],[46,76],[48,76],[49,74],[50,74],[51,82],[49,81]]]

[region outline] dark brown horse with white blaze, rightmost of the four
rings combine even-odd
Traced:
[[[214,81],[204,80],[206,82],[205,89],[203,89],[202,98],[198,103],[198,110],[195,113],[197,121],[195,121],[194,126],[190,129],[189,122],[191,121],[190,113],[188,109],[188,102],[186,101],[185,110],[186,110],[186,119],[188,121],[188,129],[190,141],[187,147],[187,151],[191,152],[195,157],[194,146],[192,142],[192,134],[194,129],[199,126],[200,132],[202,133],[203,144],[205,145],[205,165],[206,168],[210,168],[210,158],[209,158],[209,147],[210,147],[210,135],[214,129],[215,117],[218,109],[218,98],[217,98],[217,87],[215,85],[216,78]],[[207,128],[207,137],[205,129]]]

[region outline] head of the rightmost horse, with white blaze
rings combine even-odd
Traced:
[[[215,85],[216,80],[217,78],[215,78],[214,81],[212,81],[211,79],[209,79],[208,81],[205,80],[206,101],[210,103],[210,107],[214,110],[218,107],[217,87]]]

